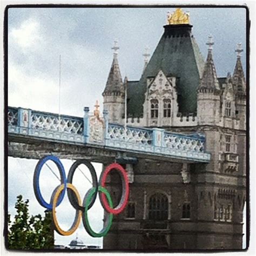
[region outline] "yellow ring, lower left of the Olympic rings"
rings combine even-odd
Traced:
[[[77,197],[77,200],[78,200],[78,204],[81,205],[81,198],[79,196],[79,193],[76,189],[75,186],[73,186],[71,183],[67,183],[66,184],[66,187],[70,190],[72,190],[75,194],[76,194],[76,197]],[[81,218],[82,218],[82,212],[80,210],[76,210],[76,217],[75,217],[75,220],[72,224],[72,226],[70,227],[70,229],[68,231],[64,231],[62,230],[62,228],[60,228],[59,224],[58,224],[58,221],[57,221],[57,217],[56,217],[56,205],[57,205],[57,201],[58,201],[58,198],[60,196],[60,193],[64,190],[64,184],[58,186],[55,191],[52,193],[52,198],[51,198],[51,201],[52,201],[52,219],[53,219],[53,223],[55,224],[55,230],[60,234],[60,235],[71,235],[73,234],[79,224],[80,224],[80,221],[81,221]]]

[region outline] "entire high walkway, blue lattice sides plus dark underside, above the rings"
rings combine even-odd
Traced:
[[[193,163],[210,161],[201,134],[110,124],[106,112],[104,119],[100,119],[89,116],[87,108],[84,118],[79,118],[9,107],[8,139],[8,154],[13,157],[39,158],[55,152],[62,157],[73,155],[74,159],[97,161],[118,156]]]

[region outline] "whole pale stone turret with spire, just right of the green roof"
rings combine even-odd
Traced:
[[[212,57],[213,44],[212,36],[209,36],[206,43],[208,55],[197,95],[199,125],[216,125],[220,120],[220,85]]]

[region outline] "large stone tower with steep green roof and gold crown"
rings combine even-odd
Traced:
[[[246,200],[242,50],[240,46],[236,50],[233,76],[218,78],[212,37],[204,62],[189,16],[178,8],[168,23],[140,80],[126,81],[127,124],[203,133],[211,161],[194,164],[139,158],[136,164],[126,164],[133,177],[129,204],[114,217],[103,248],[238,249]],[[116,202],[119,186],[113,173],[108,190]]]

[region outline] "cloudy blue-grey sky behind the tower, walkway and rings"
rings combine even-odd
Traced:
[[[193,35],[206,58],[207,36],[214,39],[213,57],[218,77],[233,72],[235,46],[246,44],[245,9],[184,8],[190,11]],[[98,99],[102,109],[102,92],[109,74],[114,39],[118,39],[119,65],[122,77],[138,80],[143,69],[143,53],[157,46],[166,24],[166,13],[174,8],[20,8],[8,12],[8,105],[58,113],[59,55],[62,55],[60,112],[83,116]],[[245,70],[245,52],[242,64]],[[9,158],[9,212],[15,213],[16,196],[30,199],[30,212],[43,213],[33,194],[32,177],[37,160]],[[71,160],[65,160],[66,173]],[[53,169],[56,168],[53,166]],[[99,173],[101,165],[96,164]],[[84,169],[86,173],[86,169]],[[57,173],[57,171],[56,171]],[[53,174],[44,169],[41,177],[46,198],[57,184]],[[88,175],[89,176],[89,175]],[[82,180],[82,181],[81,181]],[[90,184],[76,173],[76,185],[84,196]],[[80,181],[80,182],[79,182]],[[50,188],[48,187],[50,186]],[[42,188],[42,189],[43,189]],[[46,189],[47,188],[47,189]],[[63,210],[63,211],[62,211]],[[99,203],[90,210],[92,226],[99,231],[103,210]],[[63,228],[73,221],[74,211],[67,199],[58,207]],[[61,237],[56,244],[67,245],[76,234]],[[78,237],[86,244],[101,245],[102,239],[90,238],[80,224]]]

